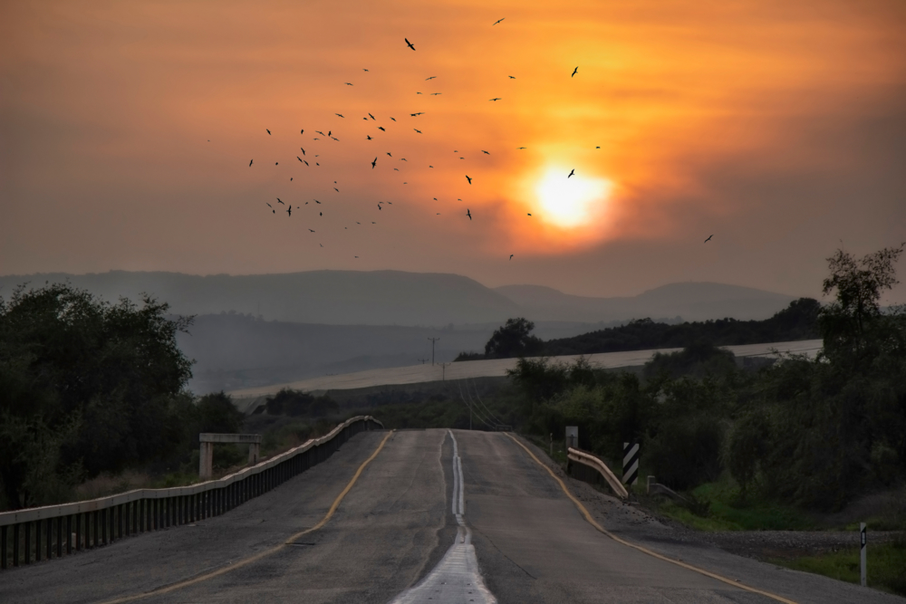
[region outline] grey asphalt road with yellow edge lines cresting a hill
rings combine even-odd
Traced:
[[[588,522],[545,456],[519,442],[460,430],[361,433],[222,516],[7,570],[0,601],[906,602],[682,542],[552,468],[589,517],[628,544],[617,542]],[[359,470],[323,527],[286,545],[323,520]]]

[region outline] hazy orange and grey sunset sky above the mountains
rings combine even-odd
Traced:
[[[904,240],[901,0],[0,5],[0,274],[819,296]]]

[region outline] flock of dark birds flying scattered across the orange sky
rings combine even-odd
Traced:
[[[500,23],[503,22],[503,21],[504,21],[504,19],[498,19],[493,25],[500,24]],[[403,41],[405,42],[406,47],[408,47],[411,51],[413,51],[413,52],[416,51],[415,44],[412,43],[412,42],[410,42],[410,40],[409,40],[408,38],[404,38]],[[573,69],[573,72],[571,73],[570,77],[573,78],[573,77],[576,75],[576,73],[578,73],[578,71],[579,71],[579,67],[576,66],[576,67]],[[370,70],[362,68],[362,72],[370,72]],[[437,77],[438,77],[438,76],[432,75],[432,76],[429,76],[428,78],[426,78],[425,81],[435,80],[435,79],[437,79]],[[516,80],[516,76],[509,75],[509,76],[507,76],[507,77],[508,77],[509,79]],[[347,86],[354,86],[353,82],[351,82],[351,81],[346,81],[346,82],[343,82],[343,83],[344,83],[345,85],[347,85]],[[419,91],[419,92],[416,92],[416,94],[422,94],[422,93]],[[441,94],[442,94],[442,92],[431,92],[431,93],[429,93],[430,96],[439,96],[439,95],[441,95]],[[494,97],[494,98],[492,98],[492,99],[489,99],[488,101],[496,102],[496,101],[502,101],[502,100],[503,100],[503,99],[502,99],[501,97]],[[377,122],[377,121],[378,121],[378,118],[376,118],[373,114],[371,114],[370,112],[366,112],[366,113],[367,113],[366,116],[362,116],[362,118],[361,118],[362,120],[364,120],[364,121],[366,121],[366,122],[369,122],[369,123],[373,123],[373,122]],[[424,111],[416,111],[416,112],[410,113],[410,118],[418,118],[419,116],[424,115],[424,114],[425,114]],[[347,117],[346,117],[345,115],[343,115],[342,113],[339,113],[339,112],[334,112],[334,116],[336,116],[339,120],[347,120]],[[388,116],[388,117],[389,117],[389,116]],[[398,121],[397,121],[395,118],[393,118],[393,117],[389,117],[389,119],[390,119],[390,121],[394,122],[394,123],[397,124],[397,125],[400,124],[400,122],[398,122]],[[388,128],[390,127],[390,124],[389,124],[389,123],[387,124],[387,127],[388,127]],[[381,133],[384,133],[384,134],[386,134],[386,133],[388,132],[387,128],[385,128],[385,126],[384,126],[383,124],[381,124],[381,125],[375,124],[375,125],[374,125],[374,129],[380,130]],[[423,133],[422,130],[421,130],[421,129],[418,129],[418,128],[412,128],[412,130],[413,130],[417,135]],[[267,136],[268,136],[268,137],[273,136],[273,133],[271,132],[270,129],[265,129],[265,132],[267,133]],[[340,130],[337,130],[337,132],[339,133]],[[311,137],[312,134],[318,134],[318,135],[320,135],[320,136],[319,136],[319,137]],[[304,128],[303,128],[303,129],[300,129],[299,135],[300,135],[301,137],[304,137],[304,136],[305,136],[305,129],[304,129]],[[334,136],[334,130],[333,130],[333,128],[328,129],[327,132],[326,132],[326,134],[323,132],[323,130],[313,130],[312,132],[310,132],[309,136],[311,137],[311,141],[312,141],[312,142],[311,142],[311,145],[314,145],[314,144],[317,142],[318,145],[315,145],[315,147],[316,147],[317,149],[321,149],[321,150],[323,150],[323,149],[320,147],[320,144],[321,144],[323,141],[327,141],[327,140],[331,140],[331,141],[335,141],[335,142],[339,142],[339,141],[340,141],[340,139],[339,139],[338,137]],[[369,134],[366,134],[366,135],[365,135],[365,140],[367,140],[367,141],[377,140],[377,139],[379,139],[380,136],[381,136],[381,135],[378,135],[377,133],[375,133],[374,136],[371,136],[371,134],[369,133]],[[302,140],[306,140],[306,139],[302,139]],[[516,148],[516,149],[518,149],[518,150],[524,150],[524,149],[527,149],[527,148],[525,148],[525,147],[518,147],[518,148]],[[596,149],[601,149],[601,148],[600,148],[600,147],[596,147]],[[313,149],[310,149],[310,150],[313,150]],[[321,158],[321,155],[322,155],[321,153],[313,153],[313,155],[310,156],[310,155],[308,154],[308,152],[304,149],[304,147],[303,147],[302,145],[300,145],[299,151],[301,152],[302,155],[301,155],[301,156],[300,156],[300,155],[296,155],[295,158],[298,160],[298,163],[299,163],[300,165],[304,165],[304,166],[306,167],[306,169],[317,169],[317,168],[320,168],[320,167],[321,167],[321,163],[320,163],[320,161],[319,161],[319,158]],[[483,154],[490,155],[490,152],[487,151],[487,150],[485,150],[485,149],[481,149],[481,152],[482,152]],[[388,158],[390,158],[390,159],[399,160],[399,161],[406,162],[407,164],[409,164],[409,160],[408,160],[407,158],[393,158],[393,155],[392,155],[392,153],[391,153],[390,151],[386,151],[385,153],[386,153],[386,156],[387,156]],[[456,156],[458,156],[459,159],[465,159],[464,156],[460,156],[460,155],[459,155],[459,151],[458,151],[458,150],[454,149],[453,153],[456,154]],[[377,166],[378,166],[378,160],[379,160],[379,158],[381,158],[381,157],[382,157],[382,156],[381,156],[381,154],[379,153],[378,155],[375,155],[373,159],[371,159],[371,161],[370,161],[369,163],[371,163],[371,169],[372,169],[372,170],[375,169],[375,168],[377,168]],[[310,162],[309,159],[311,159],[312,161]],[[279,166],[279,164],[280,164],[279,161],[276,161],[276,162],[275,162],[275,166]],[[312,164],[313,164],[313,165],[312,165]],[[253,168],[254,166],[255,166],[255,159],[254,159],[254,158],[251,158],[251,159],[249,160],[249,162],[248,162],[248,168]],[[429,168],[434,168],[434,166],[433,166],[433,165],[429,165]],[[393,170],[399,172],[399,171],[400,171],[400,168],[393,168]],[[573,168],[572,170],[570,170],[569,174],[567,174],[567,175],[565,176],[565,178],[568,179],[568,178],[570,178],[570,177],[573,177],[574,175],[575,175],[575,169]],[[472,184],[473,178],[470,177],[469,175],[465,174],[465,173],[463,174],[463,176],[465,177],[465,179],[466,179],[468,185],[471,185],[471,184]],[[290,177],[290,181],[292,182],[293,180],[294,180],[294,177]],[[409,183],[408,183],[408,181],[404,181],[402,184],[403,184],[403,185],[407,185],[407,184],[409,184]],[[334,180],[334,181],[333,181],[333,185],[334,185],[334,186],[333,186],[333,190],[334,190],[336,193],[340,193],[340,189],[339,189],[339,187],[337,187],[337,185],[338,185],[337,181]],[[437,201],[438,198],[437,198],[437,197],[434,197],[434,200]],[[316,205],[318,205],[318,206],[323,206],[323,205],[324,205],[324,204],[323,204],[321,201],[319,201],[318,199],[312,198],[311,201],[313,201],[314,204],[316,204]],[[461,202],[462,199],[458,199],[458,201]],[[298,204],[297,204],[296,206],[293,206],[292,204],[286,204],[286,203],[284,203],[283,200],[281,200],[279,197],[276,197],[276,198],[275,198],[275,203],[278,204],[278,205],[284,206],[284,209],[283,209],[282,211],[285,211],[285,212],[286,212],[286,216],[287,216],[287,217],[292,217],[292,216],[293,216],[293,210],[294,210],[294,209],[298,212],[299,210],[302,210],[302,209],[304,208],[304,206],[309,206],[309,203],[310,203],[310,202],[309,202],[309,201],[305,201],[304,204],[303,204],[302,206],[299,206]],[[265,202],[265,204],[266,204],[266,206],[267,206],[268,208],[270,208],[272,214],[276,214],[277,208],[276,208],[274,205],[272,205],[270,202]],[[384,205],[392,206],[392,205],[393,205],[393,202],[390,202],[390,201],[381,201],[381,202],[378,202],[378,203],[377,203],[378,210],[379,210],[379,211],[382,211],[382,210],[383,210],[383,207],[382,207],[382,206],[384,206]],[[323,217],[323,209],[318,209],[317,211],[318,211],[318,215],[317,215],[317,216],[318,216],[318,217]],[[438,212],[437,215],[439,216],[440,213]],[[468,208],[468,207],[466,207],[465,216],[467,216],[467,218],[469,219],[469,221],[471,221],[472,218],[473,218],[471,209]],[[527,213],[527,216],[532,216],[532,214],[531,214],[531,213]],[[354,221],[354,222],[355,222],[356,225],[361,225],[361,221]],[[368,222],[371,222],[371,225],[376,225],[376,224],[377,224],[376,221],[371,221],[371,220],[366,220],[365,222],[366,222],[366,224],[367,224]],[[349,229],[349,226],[344,226],[343,228],[344,228],[345,230],[348,230],[348,229]],[[316,234],[316,233],[318,233],[318,232],[320,231],[320,229],[319,229],[319,230],[315,230],[315,229],[309,227],[309,228],[308,228],[308,231],[309,231],[310,233],[312,233],[312,234]],[[712,235],[712,236],[713,236],[713,235]],[[711,238],[711,237],[708,237],[708,239],[706,240],[706,243],[710,240],[710,238]],[[320,246],[323,247],[323,244],[320,244]],[[515,254],[509,254],[509,260],[512,260],[513,257],[514,257],[514,255],[515,255]],[[359,256],[358,256],[358,255],[355,255],[354,257],[355,257],[355,258],[358,258]]]

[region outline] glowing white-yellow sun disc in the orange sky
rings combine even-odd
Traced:
[[[548,168],[535,193],[541,202],[540,218],[564,228],[589,225],[599,215],[612,190],[606,178],[567,177],[569,170]]]

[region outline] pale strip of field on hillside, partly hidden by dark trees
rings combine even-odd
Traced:
[[[780,352],[803,353],[814,357],[821,350],[822,340],[801,340],[789,342],[771,342],[768,344],[746,344],[744,346],[724,346],[737,357],[760,357],[772,355],[774,350]],[[679,348],[660,350],[631,350],[629,352],[602,352],[585,355],[585,359],[597,369],[617,369],[644,365],[656,352],[676,352]],[[572,363],[578,355],[551,357],[553,362]],[[275,394],[282,388],[294,388],[311,392],[313,390],[343,390],[350,388],[369,388],[393,384],[418,384],[439,381],[440,379],[492,378],[506,376],[507,369],[516,368],[516,359],[465,360],[448,363],[446,367],[437,365],[411,365],[390,369],[368,369],[355,373],[344,373],[335,376],[303,379],[300,381],[273,384],[260,388],[243,388],[229,394],[233,398],[254,400]]]

